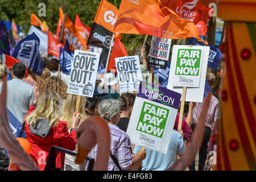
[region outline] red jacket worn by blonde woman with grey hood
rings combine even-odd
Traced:
[[[30,114],[35,107],[30,106],[28,114]],[[68,150],[75,150],[76,148],[76,130],[68,133],[67,122],[58,121],[56,127],[52,127],[49,135],[46,138],[39,138],[30,133],[30,128],[27,123],[24,125],[24,131],[27,135],[27,140],[31,145],[30,155],[34,156],[38,162],[38,167],[42,171],[46,166],[48,153],[51,146],[58,146],[67,148]],[[64,169],[65,154],[56,152],[56,168]]]

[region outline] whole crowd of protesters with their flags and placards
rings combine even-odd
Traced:
[[[22,39],[14,21],[11,35],[1,21],[0,40],[9,49],[3,49],[0,44],[0,93],[7,81],[10,131],[39,170],[46,170],[50,160],[55,160],[52,169],[90,170],[89,159],[97,160],[101,148],[96,144],[77,163],[80,152],[85,150],[78,138],[83,132],[80,126],[93,117],[104,119],[108,124],[108,171],[171,170],[188,155],[187,147],[193,142],[199,143],[195,148],[197,155],[192,156],[192,162],[185,169],[214,169],[210,161],[216,160],[212,154],[216,151],[214,137],[220,119],[220,101],[215,91],[222,73],[222,52],[203,39],[207,31],[196,26],[197,22],[183,19],[171,10],[180,7],[179,3],[150,2],[147,5],[140,2],[139,8],[172,14],[170,26],[164,27],[166,33],[158,33],[162,31],[157,28],[163,28],[160,26],[163,21],[158,17],[148,22],[147,11],[136,16],[137,21],[143,22],[142,27],[120,23],[123,17],[132,17],[134,13],[122,14],[134,9],[133,3],[125,0],[119,10],[102,0],[92,28],[82,24],[78,15],[73,24],[60,7],[54,35],[35,14],[31,14],[30,31]],[[158,3],[165,9],[160,9]],[[203,6],[198,3],[196,6]],[[209,8],[203,7],[207,18],[201,15],[201,26],[207,28],[204,22],[210,19]],[[117,24],[102,20],[106,10],[118,14]],[[171,26],[174,19],[176,26]],[[126,30],[126,27],[129,28]],[[145,27],[152,30],[144,31]],[[77,33],[79,31],[86,38]],[[75,44],[67,32],[72,32],[78,43]],[[106,45],[97,38],[97,32],[112,38],[111,44]],[[128,55],[121,34],[146,35],[138,55]],[[152,36],[151,46],[145,44],[149,36]],[[9,39],[16,41],[13,49]],[[189,42],[174,45],[175,39]],[[146,49],[148,46],[150,49]],[[106,50],[108,55],[103,55]],[[207,109],[205,102],[209,105]],[[200,122],[202,118],[204,121]],[[196,134],[200,123],[204,129]],[[86,138],[86,141],[96,138]],[[1,138],[0,146],[0,169],[22,170],[15,159],[9,157]],[[52,146],[63,148],[56,151],[54,159],[50,156]]]

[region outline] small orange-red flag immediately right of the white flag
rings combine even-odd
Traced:
[[[54,38],[51,31],[47,32],[48,34],[48,54],[60,57],[60,47],[64,47],[58,40]]]

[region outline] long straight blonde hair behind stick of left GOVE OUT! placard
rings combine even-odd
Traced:
[[[77,101],[77,95],[74,94],[68,94],[67,99],[65,100],[63,106],[61,107],[61,121],[67,122],[68,129],[71,129],[72,127],[72,117],[76,110],[76,101]],[[84,96],[81,96],[80,104],[79,104],[79,113],[81,121],[84,121],[86,118],[85,114],[85,102],[86,98]]]

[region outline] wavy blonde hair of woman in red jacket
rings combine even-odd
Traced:
[[[36,109],[25,118],[27,125],[36,126],[36,119],[46,118],[49,126],[57,126],[61,98],[52,90],[45,90],[39,95]]]

